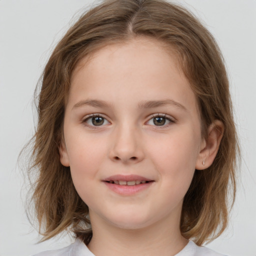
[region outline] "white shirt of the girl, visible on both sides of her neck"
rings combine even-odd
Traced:
[[[56,250],[47,250],[34,256],[95,256],[87,246],[80,240],[76,239],[74,243],[67,247]],[[225,256],[203,246],[197,246],[193,241],[179,251],[175,256]]]

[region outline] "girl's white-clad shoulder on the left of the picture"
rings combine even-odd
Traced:
[[[46,250],[33,256],[94,256],[87,246],[80,240],[76,239],[74,243],[56,250]]]

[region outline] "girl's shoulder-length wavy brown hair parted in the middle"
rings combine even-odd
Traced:
[[[224,124],[212,165],[195,170],[184,197],[181,233],[200,245],[217,237],[227,225],[228,199],[231,195],[231,201],[234,200],[239,150],[227,74],[214,38],[190,12],[164,0],[105,0],[83,14],[66,32],[42,74],[29,174],[37,173],[32,199],[44,239],[69,229],[88,243],[92,234],[88,207],[75,191],[69,167],[59,160],[72,71],[79,60],[100,47],[136,36],[162,41],[178,55],[197,96],[202,135],[206,136],[205,130],[213,120]]]

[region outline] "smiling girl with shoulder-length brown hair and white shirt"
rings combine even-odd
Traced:
[[[164,0],[105,0],[51,54],[38,97],[38,255],[221,255],[238,151],[211,34]]]

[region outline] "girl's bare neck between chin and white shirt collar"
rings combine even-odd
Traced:
[[[188,240],[180,233],[179,221],[167,223],[159,221],[143,228],[125,229],[93,217],[93,235],[88,248],[96,256],[175,255]]]

